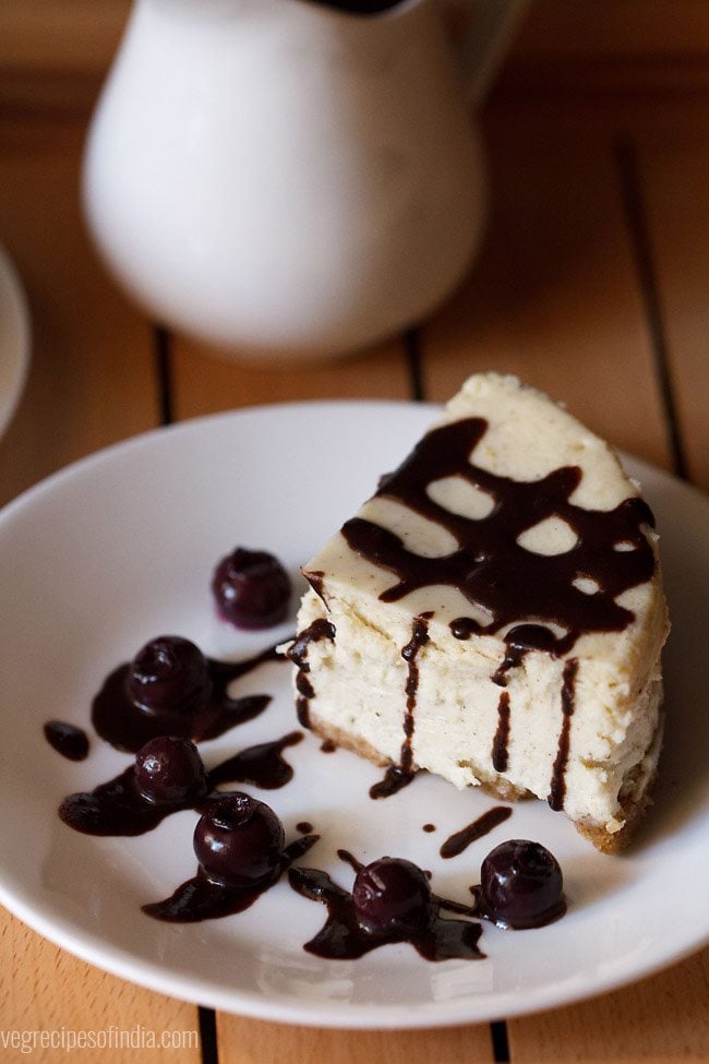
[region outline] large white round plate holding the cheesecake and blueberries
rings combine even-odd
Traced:
[[[357,961],[326,961],[302,944],[325,910],[281,881],[247,912],[192,925],[158,923],[142,902],[194,874],[195,814],[181,812],[134,839],[91,838],[56,815],[61,798],[129,761],[98,740],[87,761],[64,761],[41,726],[88,726],[105,674],[148,638],[178,633],[206,651],[245,656],[262,636],[220,625],[213,565],[237,543],[275,551],[293,571],[308,560],[430,423],[431,407],[302,404],[248,410],[161,430],[52,477],[0,516],[4,668],[0,680],[0,900],[47,937],[127,979],[168,994],[267,1019],[333,1027],[419,1027],[508,1017],[575,1001],[639,978],[707,939],[709,863],[704,751],[709,717],[700,665],[709,646],[709,503],[637,462],[662,530],[674,621],[666,654],[666,751],[657,804],[624,857],[597,853],[543,802],[460,857],[438,847],[492,804],[426,776],[385,801],[368,797],[374,766],[308,737],[287,751],[293,781],[259,792],[287,835],[307,820],[322,841],[305,863],[345,886],[335,856],[384,853],[433,871],[435,889],[465,900],[480,861],[509,837],[534,838],[558,858],[567,916],[538,931],[485,926],[485,960],[431,964],[407,945]],[[214,764],[293,728],[288,667],[271,663],[242,692],[276,697],[259,719],[203,744]],[[250,789],[250,788],[245,788]],[[422,826],[433,823],[435,834]]]

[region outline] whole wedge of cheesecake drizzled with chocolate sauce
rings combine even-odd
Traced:
[[[303,569],[301,724],[389,766],[537,796],[603,851],[649,802],[669,631],[658,537],[613,450],[471,376]]]

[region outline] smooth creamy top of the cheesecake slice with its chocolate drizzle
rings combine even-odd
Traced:
[[[468,379],[303,572],[401,643],[426,613],[441,649],[476,635],[491,663],[529,643],[630,678],[666,634],[638,486],[562,406],[496,373]]]

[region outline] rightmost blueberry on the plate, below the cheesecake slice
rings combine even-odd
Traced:
[[[509,839],[482,862],[482,901],[502,926],[539,928],[556,919],[565,910],[563,887],[558,862],[541,842]]]

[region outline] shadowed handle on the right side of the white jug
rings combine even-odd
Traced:
[[[473,107],[484,99],[528,5],[529,0],[468,0],[458,59]]]

